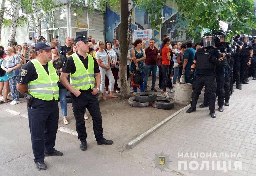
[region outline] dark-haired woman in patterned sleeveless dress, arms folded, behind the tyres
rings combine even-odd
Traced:
[[[141,48],[142,40],[136,39],[134,41],[135,47],[131,50],[132,58],[135,56],[136,60],[132,61],[131,72],[133,73],[133,79],[138,80],[136,83],[140,84],[140,92],[144,92],[144,60],[146,59],[145,51]],[[133,95],[137,94],[137,87],[133,87]]]

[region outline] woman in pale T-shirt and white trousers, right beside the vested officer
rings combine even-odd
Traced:
[[[117,96],[113,95],[115,78],[110,69],[110,55],[107,53],[108,51],[105,49],[105,44],[103,41],[99,40],[97,42],[97,46],[99,50],[95,54],[96,61],[99,65],[101,83],[100,83],[100,92],[102,93],[102,99],[107,100],[104,87],[105,87],[105,77],[107,76],[109,79],[109,98],[117,98]]]

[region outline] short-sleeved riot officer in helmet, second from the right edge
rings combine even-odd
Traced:
[[[253,50],[248,35],[243,34],[241,40],[243,47],[240,52],[240,80],[242,84],[248,84],[248,82],[246,82],[246,69],[251,65]]]

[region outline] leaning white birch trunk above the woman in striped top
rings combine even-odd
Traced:
[[[12,25],[10,28],[10,35],[8,38],[9,46],[14,45],[14,38],[15,38],[17,24],[18,24],[19,10],[20,10],[20,0],[17,0],[13,5]]]

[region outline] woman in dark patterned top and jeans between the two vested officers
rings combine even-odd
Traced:
[[[66,61],[66,58],[65,56],[59,54],[59,47],[56,42],[50,42],[49,45],[51,47],[55,47],[55,49],[52,49],[52,60],[50,62],[53,64],[53,67],[55,68],[57,75],[60,77],[61,70]],[[65,125],[67,125],[69,124],[67,120],[67,101],[66,101],[67,89],[60,81],[58,86],[59,86],[60,108],[62,111],[63,122]]]

